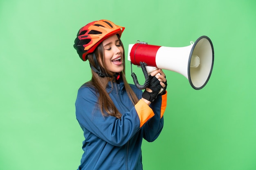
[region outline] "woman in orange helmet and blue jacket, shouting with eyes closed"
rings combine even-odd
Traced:
[[[75,104],[85,137],[78,170],[142,170],[142,139],[153,142],[164,125],[165,74],[160,69],[152,72],[144,92],[127,83],[123,31],[99,20],[83,26],[75,39],[74,48],[92,70]]]

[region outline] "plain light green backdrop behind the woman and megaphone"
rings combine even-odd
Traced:
[[[126,27],[126,52],[137,40],[184,47],[207,35],[213,42],[203,89],[164,70],[164,129],[143,142],[144,169],[256,170],[255,7],[254,0],[1,0],[0,169],[77,169],[83,132],[74,102],[91,71],[73,43],[79,28],[107,19]],[[143,83],[141,69],[133,71]],[[127,59],[126,76],[133,83]]]

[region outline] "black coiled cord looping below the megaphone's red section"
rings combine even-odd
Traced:
[[[144,74],[144,77],[145,77],[145,83],[144,85],[140,85],[139,82],[138,82],[138,79],[137,79],[137,76],[135,73],[132,72],[132,79],[133,79],[133,82],[135,84],[135,86],[138,88],[138,89],[146,89],[149,85],[149,76],[148,76],[148,72],[146,70],[146,63],[144,62],[139,62],[140,63],[140,66],[141,66],[141,69],[142,69],[142,72]],[[131,63],[131,71],[132,71],[132,63]]]

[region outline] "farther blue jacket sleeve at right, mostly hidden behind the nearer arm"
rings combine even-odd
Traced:
[[[153,142],[161,133],[164,126],[164,111],[166,109],[167,92],[151,103],[150,107],[153,109],[155,116],[151,118],[143,129],[143,137],[148,142]]]

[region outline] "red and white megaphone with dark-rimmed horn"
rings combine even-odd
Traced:
[[[137,41],[128,46],[128,60],[134,65],[146,63],[148,74],[156,68],[180,73],[189,80],[191,87],[199,90],[207,84],[213,70],[213,44],[207,36],[185,47],[155,46]]]

